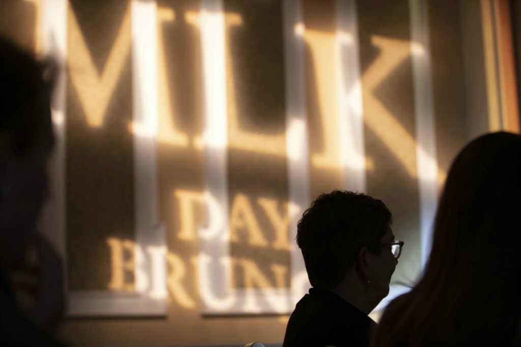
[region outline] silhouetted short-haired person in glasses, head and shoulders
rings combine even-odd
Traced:
[[[367,346],[367,315],[389,293],[403,242],[394,240],[386,205],[334,190],[302,215],[296,242],[313,288],[296,304],[284,347]]]

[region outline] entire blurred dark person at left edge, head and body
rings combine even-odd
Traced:
[[[0,37],[1,345],[59,345],[48,331],[64,307],[61,261],[37,232],[54,145],[44,75]]]

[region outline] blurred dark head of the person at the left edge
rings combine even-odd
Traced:
[[[0,264],[18,266],[47,195],[49,83],[34,57],[0,37]]]

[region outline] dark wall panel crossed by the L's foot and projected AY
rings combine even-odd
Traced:
[[[279,5],[225,3],[232,283],[237,288],[290,286]]]

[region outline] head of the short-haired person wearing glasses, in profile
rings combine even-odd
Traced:
[[[335,190],[320,195],[297,227],[313,287],[362,302],[369,313],[389,293],[397,256],[392,216],[386,205],[365,194]],[[399,247],[399,248],[396,248]]]

